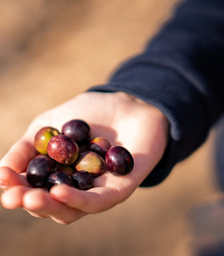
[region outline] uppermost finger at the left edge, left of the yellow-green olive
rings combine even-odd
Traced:
[[[20,139],[2,158],[0,167],[7,166],[17,173],[22,173],[26,170],[26,166],[36,154],[37,151],[31,142]]]

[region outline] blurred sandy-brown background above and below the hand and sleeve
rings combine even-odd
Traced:
[[[102,84],[178,0],[0,0],[0,158],[32,119]],[[0,206],[0,255],[193,256],[190,213],[222,198],[214,132],[161,185],[69,226]]]

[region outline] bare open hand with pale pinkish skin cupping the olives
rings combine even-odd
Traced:
[[[125,146],[134,158],[133,171],[123,177],[106,171],[95,178],[94,188],[87,191],[66,185],[54,186],[50,193],[31,188],[22,173],[37,154],[34,134],[43,126],[60,130],[72,118],[88,122],[93,137],[102,136],[113,145]],[[75,222],[87,214],[109,210],[129,198],[150,174],[166,149],[168,132],[169,123],[160,110],[129,94],[80,94],[38,115],[22,138],[2,158],[2,206],[6,209],[22,207],[35,217],[52,218],[62,224]]]

